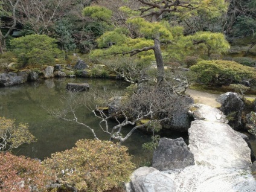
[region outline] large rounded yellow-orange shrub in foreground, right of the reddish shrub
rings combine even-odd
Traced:
[[[81,139],[65,152],[44,161],[56,171],[61,182],[78,190],[104,191],[128,181],[134,168],[127,148],[114,142]]]

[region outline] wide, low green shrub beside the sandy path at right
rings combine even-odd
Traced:
[[[190,69],[196,72],[197,82],[206,85],[229,85],[256,77],[254,68],[227,60],[203,60]]]

